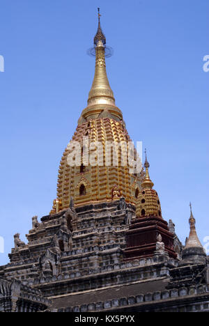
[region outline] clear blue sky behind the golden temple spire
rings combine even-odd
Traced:
[[[13,235],[47,215],[59,162],[86,107],[102,29],[114,56],[107,73],[134,141],[148,149],[162,214],[180,240],[192,201],[199,238],[208,227],[208,0],[1,0],[0,236],[8,262]]]

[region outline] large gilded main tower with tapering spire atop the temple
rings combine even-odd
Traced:
[[[131,139],[125,128],[123,114],[116,107],[114,93],[107,78],[106,38],[101,29],[100,13],[98,13],[98,31],[93,42],[95,75],[88,94],[88,105],[82,111],[72,141],[79,142],[81,155],[86,150],[88,151],[89,146],[84,145],[84,139],[85,141],[87,139],[88,144],[100,142],[102,145],[98,150],[102,155],[94,166],[88,162],[85,164],[83,156],[79,166],[69,166],[69,146],[65,149],[59,167],[57,198],[54,200],[52,214],[68,208],[71,197],[76,206],[111,201],[118,197],[124,197],[127,203],[135,204],[137,194],[141,189],[143,171],[130,173],[129,163],[127,162],[124,166],[121,162],[123,157],[127,157],[126,144]],[[114,164],[113,152],[111,152],[111,164],[109,166],[105,164],[107,155],[105,143],[107,142],[122,144],[121,149],[118,150],[118,164]],[[134,150],[134,156],[136,159],[136,150]]]

